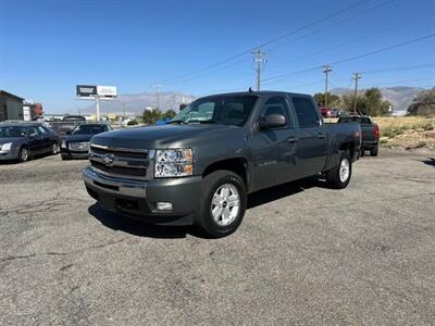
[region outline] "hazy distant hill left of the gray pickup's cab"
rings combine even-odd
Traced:
[[[165,91],[160,93],[161,111],[175,110],[178,112],[179,104],[183,102],[189,103],[195,99],[191,95],[184,95],[175,91]],[[119,113],[122,114],[125,110],[127,115],[139,115],[145,108],[156,108],[158,96],[154,92],[141,92],[120,95],[111,101],[100,101],[100,111],[102,114]],[[82,113],[95,113],[95,104],[90,104],[82,110]]]

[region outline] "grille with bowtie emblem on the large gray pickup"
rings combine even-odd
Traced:
[[[89,160],[91,167],[103,175],[144,180],[152,178],[148,150],[91,145]]]

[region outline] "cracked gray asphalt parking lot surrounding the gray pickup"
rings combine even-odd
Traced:
[[[86,164],[0,164],[1,325],[435,323],[434,154],[252,195],[219,240],[102,211]]]

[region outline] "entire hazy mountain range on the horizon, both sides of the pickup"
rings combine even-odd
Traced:
[[[407,87],[407,86],[397,86],[397,87],[385,87],[380,88],[384,100],[389,101],[393,104],[393,112],[395,115],[402,115],[407,113],[409,104],[415,98],[417,93],[423,88],[419,87]],[[364,89],[359,90],[359,92],[363,92]],[[345,95],[352,93],[353,90],[350,88],[333,88],[331,90],[332,93],[335,95]],[[161,108],[162,111],[166,111],[169,109],[178,112],[179,104],[189,103],[196,97],[192,95],[181,93],[176,91],[165,91],[157,95],[156,92],[140,92],[140,93],[130,93],[130,95],[120,95],[116,99],[111,101],[101,101],[100,110],[101,113],[117,113],[127,115],[140,115],[146,108]],[[158,105],[159,102],[159,105]],[[94,113],[95,104],[91,104],[84,110],[83,113]]]

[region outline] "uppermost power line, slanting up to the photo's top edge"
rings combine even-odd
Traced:
[[[328,15],[322,17],[322,18],[319,18],[319,20],[316,20],[316,21],[314,21],[314,22],[312,22],[312,23],[310,23],[310,24],[307,24],[307,25],[304,25],[304,26],[302,26],[302,27],[296,28],[296,29],[294,29],[294,30],[291,30],[291,32],[288,32],[288,33],[282,35],[282,36],[272,38],[272,39],[270,39],[270,40],[268,40],[268,41],[265,41],[265,42],[263,42],[263,43],[260,43],[260,45],[258,45],[258,46],[256,46],[256,47],[252,47],[252,48],[250,48],[250,49],[248,49],[248,50],[245,50],[245,51],[243,51],[243,52],[240,52],[240,53],[238,53],[238,54],[235,54],[235,55],[233,55],[233,57],[229,57],[229,58],[227,58],[227,59],[225,59],[225,60],[219,61],[219,62],[216,62],[216,63],[214,63],[214,64],[211,64],[211,65],[209,65],[209,66],[207,66],[207,67],[200,68],[200,70],[198,70],[198,71],[195,71],[195,72],[191,72],[191,73],[188,73],[188,74],[185,74],[185,75],[182,75],[182,76],[179,76],[179,77],[175,77],[175,78],[172,78],[172,79],[167,79],[167,80],[165,80],[165,84],[171,84],[171,83],[174,82],[174,80],[184,79],[184,78],[186,78],[186,77],[189,77],[189,76],[192,76],[192,75],[197,75],[197,74],[202,73],[202,72],[204,72],[204,71],[209,71],[209,70],[211,70],[211,68],[217,67],[217,66],[220,66],[220,65],[222,65],[222,64],[225,64],[225,63],[227,63],[227,62],[229,62],[229,61],[233,61],[233,60],[236,60],[236,59],[238,59],[238,58],[241,58],[243,55],[249,54],[249,53],[250,53],[253,49],[256,49],[256,48],[263,48],[263,47],[265,47],[265,46],[268,46],[268,45],[271,45],[271,43],[273,43],[273,42],[276,42],[276,41],[278,41],[278,40],[282,40],[282,39],[284,39],[284,38],[286,38],[286,37],[288,37],[288,36],[291,36],[291,35],[295,35],[295,34],[301,32],[301,30],[304,30],[304,29],[307,29],[307,28],[309,28],[309,27],[311,27],[311,26],[319,25],[319,24],[321,24],[321,23],[323,23],[323,22],[325,22],[325,21],[327,21],[327,20],[331,20],[331,18],[333,18],[333,17],[335,17],[335,16],[337,16],[337,15],[339,15],[339,14],[346,12],[346,11],[349,11],[349,10],[356,8],[356,7],[359,7],[359,5],[363,4],[363,3],[364,3],[364,1],[359,1],[359,2],[356,3],[356,4],[348,5],[348,7],[344,8],[344,9],[340,9],[340,10],[338,10],[338,11],[335,11],[335,12],[333,12],[333,13],[331,13],[331,14],[328,14]]]

